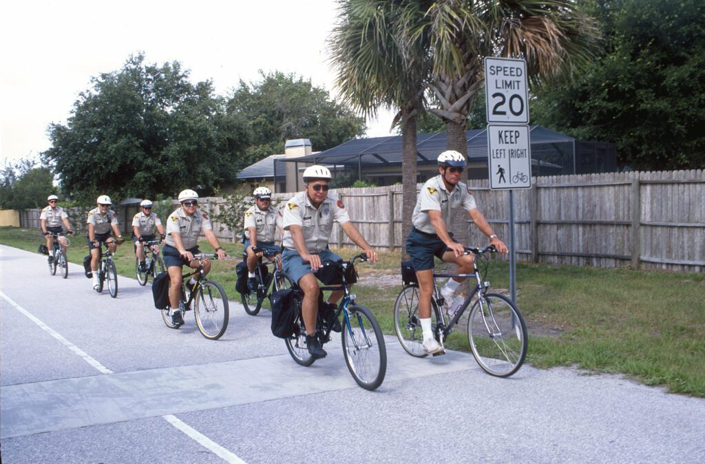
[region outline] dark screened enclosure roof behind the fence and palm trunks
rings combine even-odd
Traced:
[[[557,142],[573,142],[575,139],[545,128],[531,126],[532,150],[536,145],[552,144]],[[470,161],[487,159],[487,130],[471,129],[465,134],[467,140],[467,156]],[[417,135],[417,163],[436,164],[439,153],[446,149],[446,133],[436,132]],[[400,164],[402,161],[401,135],[388,137],[358,138],[348,140],[337,147],[333,147],[306,157],[288,158],[282,161],[298,163],[326,163],[326,164]],[[279,166],[283,162],[277,161],[277,176]]]

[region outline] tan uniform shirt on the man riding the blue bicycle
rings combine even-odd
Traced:
[[[345,205],[333,195],[315,208],[306,192],[299,192],[286,202],[283,210],[282,243],[288,250],[296,250],[289,226],[301,226],[309,253],[319,253],[328,246],[333,231],[333,221],[337,221],[338,224],[350,221]]]

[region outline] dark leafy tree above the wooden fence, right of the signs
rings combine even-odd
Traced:
[[[541,92],[536,123],[614,142],[635,169],[705,168],[705,3],[601,0],[606,47],[588,73]]]

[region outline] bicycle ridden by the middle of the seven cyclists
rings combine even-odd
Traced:
[[[188,274],[183,274],[178,310],[181,311],[183,317],[186,311],[192,309],[191,303],[193,303],[198,330],[209,340],[217,340],[225,334],[228,328],[228,320],[230,318],[228,296],[219,283],[206,278],[203,273],[203,262],[204,260],[217,260],[218,255],[200,253],[193,258],[198,260],[198,268]],[[195,285],[191,291],[188,292],[187,300],[186,282],[189,281],[191,276],[197,276],[197,278]],[[164,319],[164,324],[166,324],[167,327],[170,329],[178,329],[172,321],[174,310],[171,306],[167,306],[164,310],[160,310],[160,312],[161,318]]]

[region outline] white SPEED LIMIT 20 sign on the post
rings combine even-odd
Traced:
[[[485,92],[488,123],[529,123],[527,63],[486,56]]]

